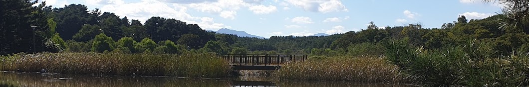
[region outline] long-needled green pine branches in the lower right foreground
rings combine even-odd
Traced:
[[[426,52],[407,45],[406,39],[384,43],[387,59],[419,83],[429,86],[527,86],[527,55],[494,56],[494,45],[469,40],[460,46]]]

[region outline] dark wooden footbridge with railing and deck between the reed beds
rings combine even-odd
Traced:
[[[307,55],[222,54],[234,70],[278,70],[286,62],[305,61]]]

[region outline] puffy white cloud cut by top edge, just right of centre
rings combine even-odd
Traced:
[[[348,9],[338,0],[286,0],[291,5],[311,12],[347,12]]]

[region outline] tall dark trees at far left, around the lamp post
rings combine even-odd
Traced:
[[[55,33],[48,27],[45,11],[49,7],[45,7],[45,3],[32,6],[36,3],[30,0],[0,1],[0,55],[58,51],[50,40]]]

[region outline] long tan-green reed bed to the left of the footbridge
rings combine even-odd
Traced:
[[[231,66],[214,54],[37,53],[0,56],[1,71],[216,78]]]

